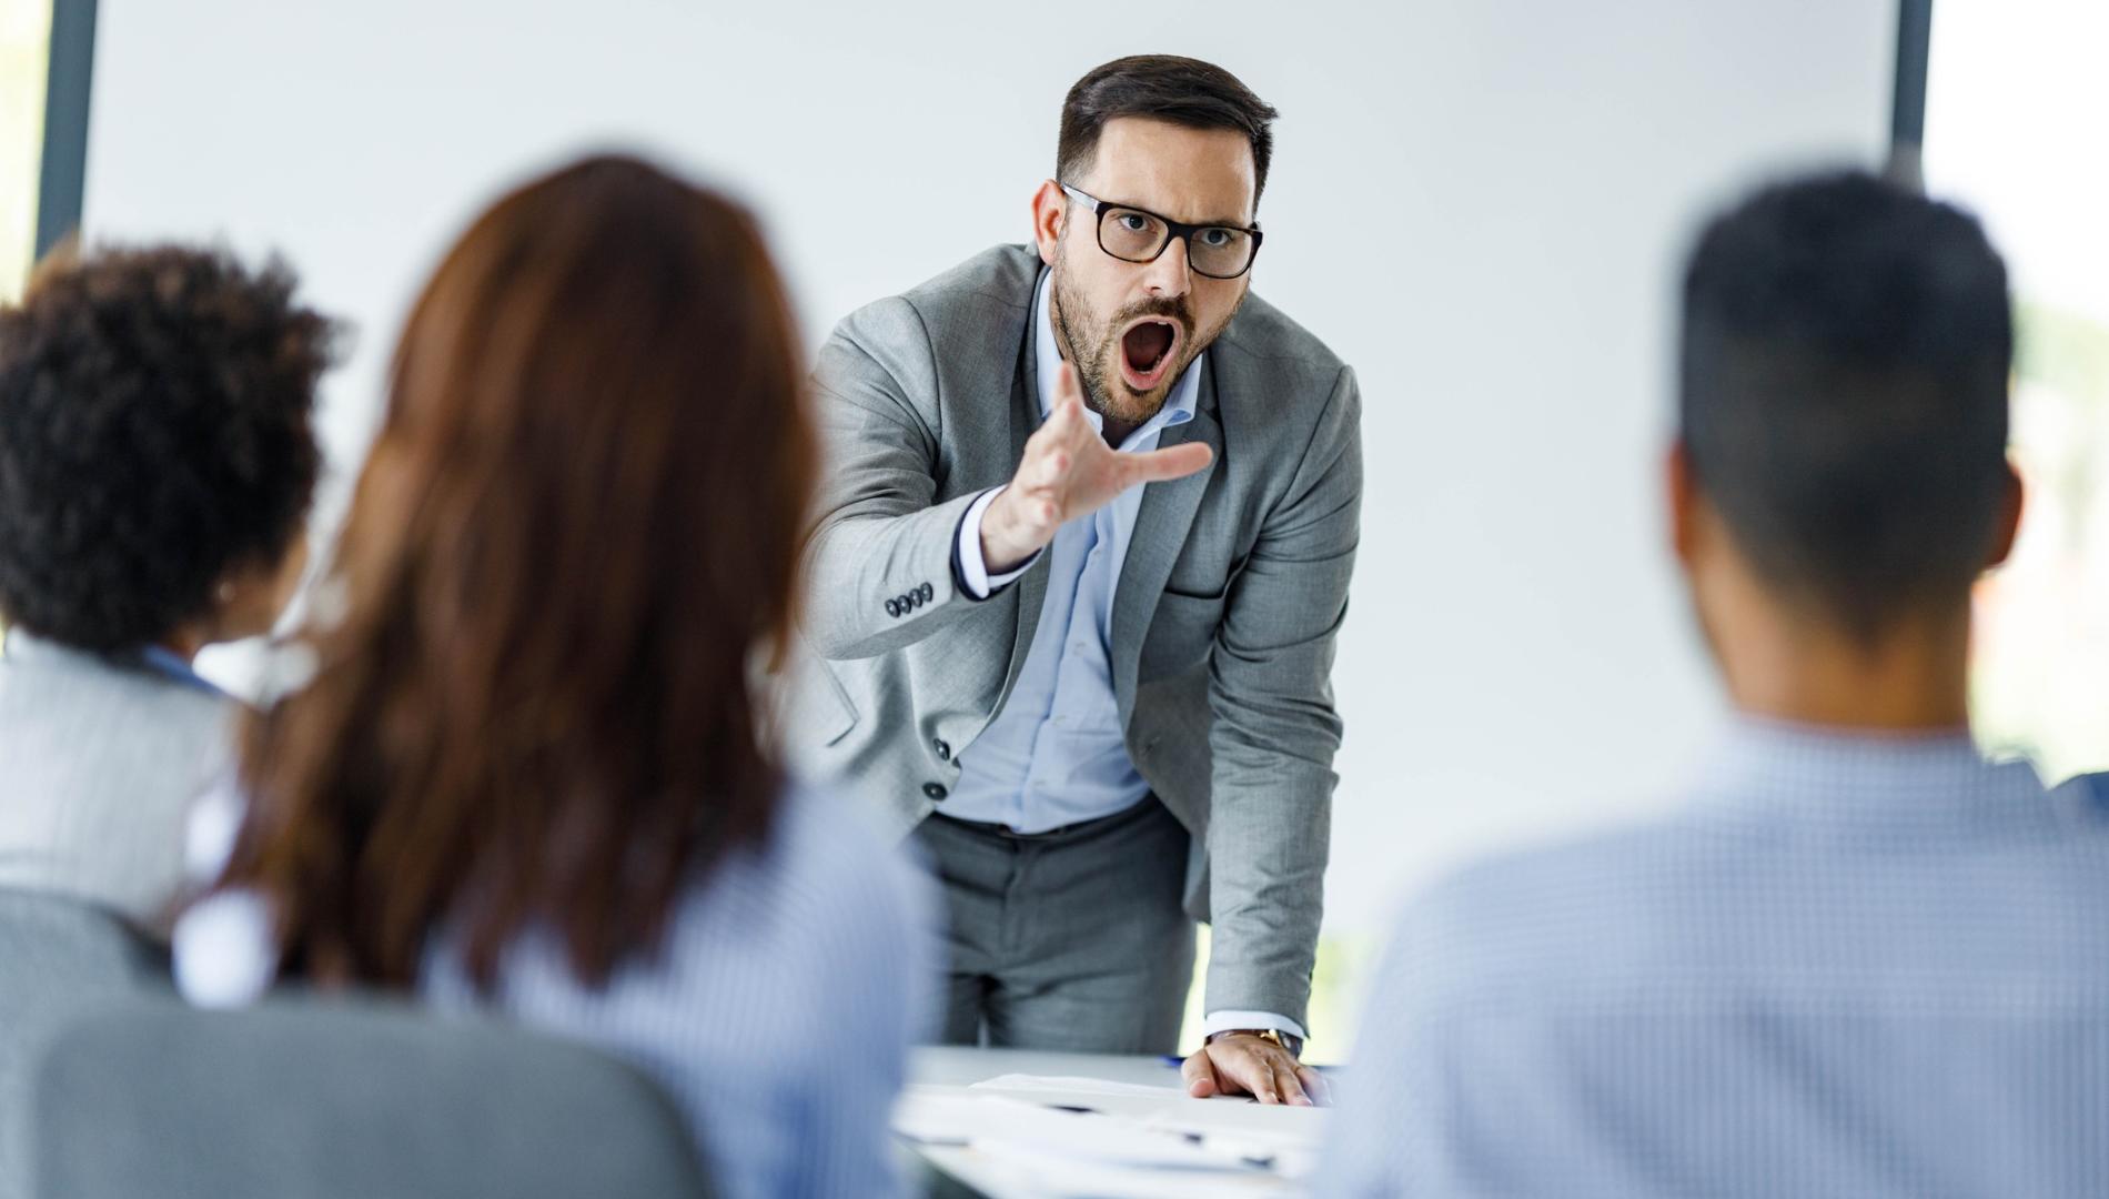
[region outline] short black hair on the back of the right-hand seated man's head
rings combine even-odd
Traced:
[[[1681,439],[1767,585],[1871,642],[1968,597],[2008,486],[2006,264],[1968,213],[1845,171],[1706,226]]]

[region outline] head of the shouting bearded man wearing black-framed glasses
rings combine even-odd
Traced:
[[[1149,420],[1244,302],[1272,122],[1198,59],[1118,59],[1069,89],[1033,234],[1054,270],[1057,342],[1095,412]],[[1181,236],[1166,220],[1204,228]]]

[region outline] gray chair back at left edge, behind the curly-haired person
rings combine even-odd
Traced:
[[[23,1199],[30,1062],[61,1020],[97,1003],[167,992],[167,956],[114,914],[40,891],[0,889],[0,1199]]]

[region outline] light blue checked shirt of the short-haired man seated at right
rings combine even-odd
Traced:
[[[1672,819],[1413,903],[1318,1195],[2109,1195],[2109,821],[1742,722]]]

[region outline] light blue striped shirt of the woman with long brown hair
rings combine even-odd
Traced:
[[[226,802],[200,811],[194,859],[226,857],[234,815]],[[561,941],[531,933],[508,948],[489,1001],[443,937],[420,992],[637,1064],[690,1117],[721,1195],[898,1195],[888,1117],[907,1047],[928,1032],[941,948],[928,880],[863,821],[831,794],[789,792],[768,851],[719,865],[679,903],[660,954],[605,990],[572,977]],[[215,895],[177,925],[192,1003],[251,1003],[274,971],[251,895]]]

